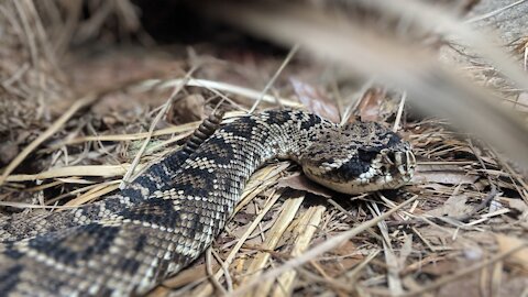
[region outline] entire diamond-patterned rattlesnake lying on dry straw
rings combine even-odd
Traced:
[[[1,221],[0,294],[143,294],[207,249],[268,161],[293,160],[309,178],[348,194],[400,187],[416,164],[408,142],[372,122],[338,125],[271,110],[218,125],[206,121],[184,150],[113,197],[30,223]]]

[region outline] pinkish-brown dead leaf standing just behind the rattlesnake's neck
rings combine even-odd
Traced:
[[[330,100],[322,90],[293,77],[289,78],[289,81],[294,86],[295,94],[299,97],[299,101],[305,105],[309,111],[334,123],[340,122],[341,117],[336,107],[336,102]]]

